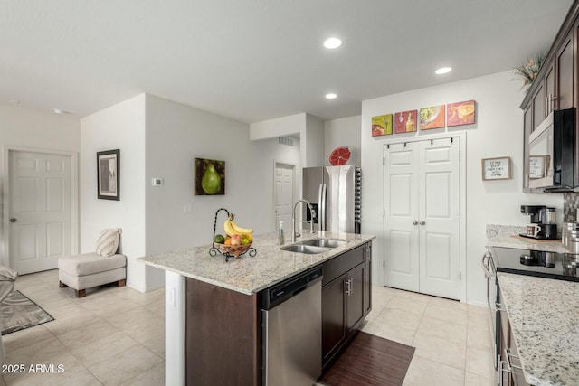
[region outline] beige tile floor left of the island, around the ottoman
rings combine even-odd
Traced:
[[[164,384],[163,289],[143,294],[108,286],[79,299],[73,289],[58,287],[58,270],[24,275],[16,289],[55,320],[3,337],[6,363],[24,364],[26,371],[3,372],[0,385]],[[53,364],[55,372],[28,371],[40,363]]]

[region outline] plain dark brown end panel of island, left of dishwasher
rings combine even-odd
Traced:
[[[261,293],[185,278],[185,385],[261,385]]]

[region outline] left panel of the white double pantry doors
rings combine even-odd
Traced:
[[[384,146],[385,283],[419,291],[417,143]]]

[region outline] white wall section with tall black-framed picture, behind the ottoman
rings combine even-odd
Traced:
[[[97,199],[96,154],[111,149],[120,149],[120,201]],[[145,94],[81,118],[81,251],[94,251],[102,229],[122,228],[127,285],[143,292],[145,162]]]

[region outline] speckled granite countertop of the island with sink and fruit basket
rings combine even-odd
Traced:
[[[246,255],[238,259],[230,258],[225,262],[222,255],[210,256],[211,245],[178,249],[165,253],[139,258],[145,264],[176,272],[188,278],[195,278],[215,286],[225,287],[242,294],[252,295],[262,289],[271,287],[293,275],[312,268],[321,262],[354,249],[365,242],[375,239],[375,236],[319,231],[303,232],[303,237],[297,241],[331,238],[347,240],[345,245],[330,249],[327,252],[308,255],[280,250],[277,233],[267,233],[253,236],[252,247],[257,255],[252,258]],[[286,242],[285,245],[289,245]]]

